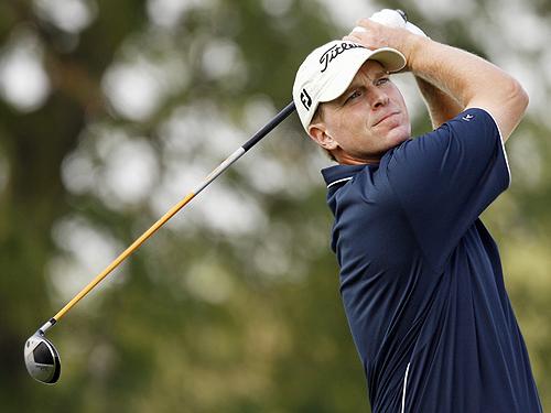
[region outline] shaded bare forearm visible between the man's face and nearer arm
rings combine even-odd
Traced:
[[[434,85],[431,85],[429,81],[418,76],[415,76],[415,81],[426,105],[426,109],[429,110],[432,127],[434,129],[450,119],[455,118],[465,109],[457,100],[453,99],[450,95],[446,95]]]

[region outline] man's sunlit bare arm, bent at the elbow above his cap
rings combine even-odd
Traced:
[[[346,40],[366,47],[395,47],[402,52],[408,68],[420,79],[451,97],[462,109],[487,110],[504,141],[520,122],[528,96],[520,84],[494,64],[472,53],[411,34],[404,29],[388,28],[363,19],[365,32],[352,32]]]

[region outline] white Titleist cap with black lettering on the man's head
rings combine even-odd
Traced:
[[[379,62],[388,72],[406,66],[406,57],[396,48],[371,51],[343,40],[328,42],[309,54],[293,85],[294,105],[306,132],[317,106],[344,94],[367,59]]]

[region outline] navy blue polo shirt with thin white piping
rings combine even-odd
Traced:
[[[541,412],[497,246],[478,218],[510,180],[490,115],[468,109],[378,165],[322,173],[372,412]]]

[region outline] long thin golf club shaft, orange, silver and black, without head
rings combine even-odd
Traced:
[[[210,172],[203,182],[197,185],[194,191],[187,194],[180,203],[174,205],[166,214],[164,214],[155,224],[153,224],[145,232],[143,232],[130,247],[128,247],[119,257],[117,257],[104,271],[101,271],[88,285],[86,285],[77,295],[73,297],[60,312],[46,322],[39,332],[46,333],[56,322],[58,322],[76,303],[78,303],[86,294],[88,294],[101,280],[104,280],[111,271],[120,265],[133,251],[136,251],[145,240],[156,232],[169,219],[171,219],[180,209],[187,205],[199,192],[216,180],[224,171],[226,171],[234,162],[241,157],[249,149],[257,144],[266,137],[273,128],[281,123],[289,115],[295,110],[294,104],[291,101],[283,108],[270,122],[262,127],[252,138],[244,143],[238,150],[230,154],[223,163],[220,163],[213,172]]]

